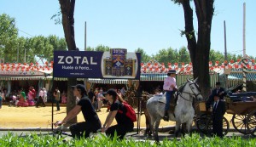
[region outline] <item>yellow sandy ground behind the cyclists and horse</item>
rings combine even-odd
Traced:
[[[66,116],[66,107],[61,107],[60,111],[55,111],[54,108],[54,121],[61,121]],[[101,112],[97,112],[102,123],[108,115],[107,108],[102,108]],[[3,105],[0,109],[0,128],[27,128],[27,127],[42,127],[51,128],[51,106],[46,107],[9,107]],[[225,115],[229,120],[231,115]],[[83,122],[84,117],[79,113],[78,122]],[[113,124],[116,122],[114,121]],[[137,127],[137,122],[135,122]],[[175,122],[160,122],[160,127],[173,126]],[[231,124],[230,124],[231,125]],[[141,127],[145,127],[145,116],[141,116]],[[231,126],[230,126],[231,127]]]

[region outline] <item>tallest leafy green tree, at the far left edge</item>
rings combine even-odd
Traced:
[[[0,15],[0,59],[4,62],[14,62],[17,54],[18,29],[15,19],[8,14]]]

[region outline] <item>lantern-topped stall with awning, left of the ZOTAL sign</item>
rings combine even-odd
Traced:
[[[16,95],[20,89],[26,93],[29,87],[49,89],[49,81],[45,81],[47,76],[52,73],[52,63],[45,62],[44,65],[33,64],[1,64],[0,65],[0,88],[6,94]]]

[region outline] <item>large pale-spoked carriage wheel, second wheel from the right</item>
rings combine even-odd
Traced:
[[[247,115],[233,115],[232,125],[236,128],[239,133],[247,134],[250,133],[247,129]]]

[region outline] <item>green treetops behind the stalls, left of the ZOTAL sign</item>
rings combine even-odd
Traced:
[[[35,56],[53,60],[54,50],[67,50],[65,38],[55,35],[18,37],[15,19],[8,14],[0,15],[0,59],[4,59],[5,63],[34,63]]]

